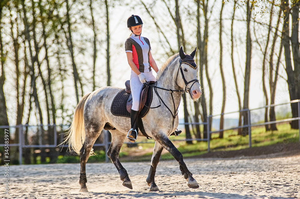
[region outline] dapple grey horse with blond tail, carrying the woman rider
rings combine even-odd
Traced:
[[[188,92],[193,100],[201,95],[199,80],[197,80],[198,68],[193,60],[195,52],[196,49],[190,55],[184,54],[181,48],[178,54],[173,55],[164,63],[157,74],[151,107],[160,104],[161,106],[150,109],[143,117],[146,133],[155,140],[149,175],[146,179],[150,187],[149,191],[159,191],[154,177],[163,148],[167,149],[179,162],[179,168],[187,180],[187,186],[199,188],[197,181],[187,169],[182,154],[169,139],[179,124],[177,113],[182,93]],[[119,171],[123,186],[132,189],[128,173],[119,161],[120,148],[128,129],[131,128],[130,118],[115,116],[110,111],[112,101],[120,90],[113,86],[99,88],[83,96],[74,111],[73,122],[64,142],[69,144],[70,150],[80,155],[79,184],[81,189],[79,192],[88,192],[85,164],[88,157],[93,154],[92,146],[103,128],[109,130],[112,135],[107,155]],[[140,133],[139,136],[143,135]]]

